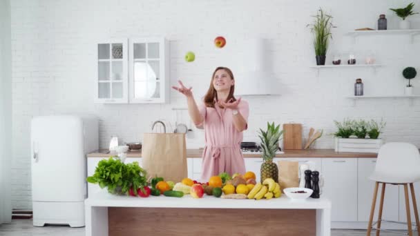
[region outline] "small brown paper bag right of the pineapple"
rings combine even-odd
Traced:
[[[278,169],[278,182],[282,190],[299,186],[298,161],[278,161]]]

